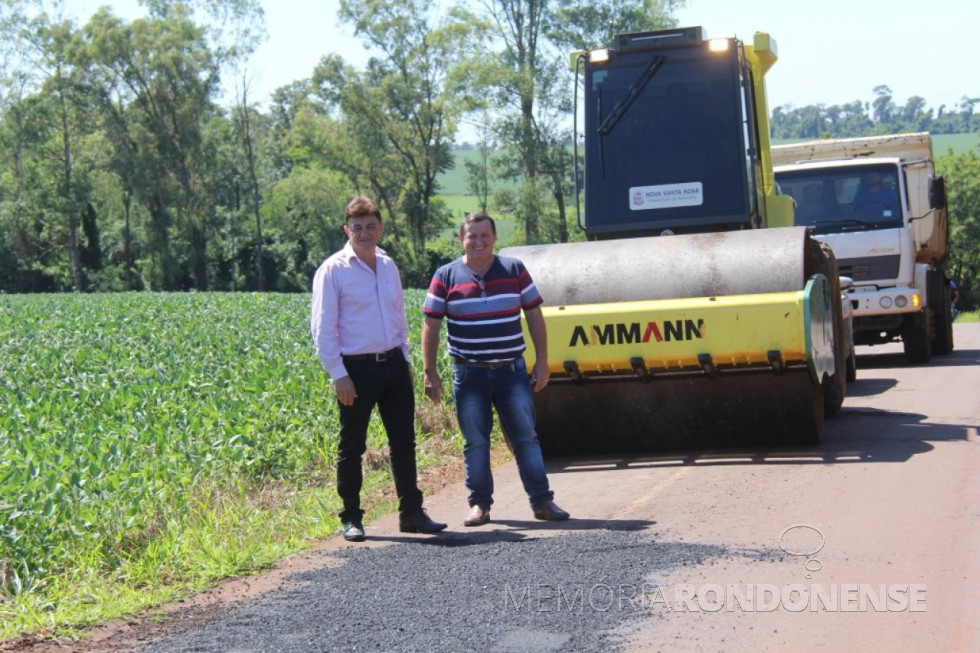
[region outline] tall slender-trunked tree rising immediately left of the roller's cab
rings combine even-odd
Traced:
[[[500,160],[502,175],[520,179],[517,217],[524,239],[541,242],[541,218],[548,214],[547,196],[557,221],[548,239],[567,239],[566,195],[571,184],[571,158],[565,151],[572,133],[572,50],[597,47],[623,31],[676,24],[673,0],[481,0],[473,13],[460,16],[486,25],[494,37],[472,77],[474,97],[487,96],[495,107],[496,133],[506,144]],[[489,90],[487,90],[489,89]],[[545,231],[550,229],[545,228]]]

